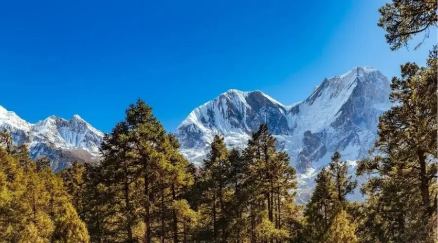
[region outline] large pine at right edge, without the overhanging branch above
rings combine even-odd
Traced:
[[[391,86],[390,99],[396,105],[379,122],[375,147],[382,155],[359,163],[358,174],[378,174],[363,191],[386,206],[374,210],[383,215],[381,237],[424,242],[434,231],[430,222],[437,211],[436,60],[435,48],[427,68],[402,66],[402,78],[394,78]],[[388,214],[387,208],[398,211]]]

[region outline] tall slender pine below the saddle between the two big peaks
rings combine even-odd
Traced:
[[[293,205],[294,194],[291,191],[296,189],[296,173],[289,165],[289,156],[276,151],[275,138],[266,124],[260,125],[259,131],[253,133],[242,158],[246,170],[242,187],[248,200],[248,232],[250,241],[256,242],[260,240],[257,233],[259,225],[265,224],[262,228],[267,228],[266,221],[263,221],[266,215],[274,229],[290,228],[282,222],[291,222],[285,209]],[[279,239],[280,235],[285,236],[272,235],[269,241],[281,242],[287,238]]]

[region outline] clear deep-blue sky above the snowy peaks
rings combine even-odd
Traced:
[[[420,50],[391,52],[383,0],[6,1],[0,8],[0,105],[36,122],[79,114],[110,132],[142,98],[174,131],[231,89],[283,104],[325,77],[374,66],[389,78]]]

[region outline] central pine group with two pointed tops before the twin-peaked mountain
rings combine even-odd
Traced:
[[[242,152],[228,151],[223,137],[216,136],[198,178],[195,176],[193,191],[187,194],[200,217],[194,240],[241,243],[295,239],[301,217],[301,208],[293,202],[295,176],[289,156],[276,151],[267,125],[253,133]]]

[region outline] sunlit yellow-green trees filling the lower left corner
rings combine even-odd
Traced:
[[[0,133],[0,144],[0,242],[88,243],[85,224],[50,160],[31,161],[7,133]]]

